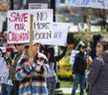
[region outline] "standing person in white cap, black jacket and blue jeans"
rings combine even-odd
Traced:
[[[71,95],[75,95],[78,84],[80,84],[80,95],[84,95],[86,66],[85,45],[81,44],[79,45],[79,53],[76,54],[73,64],[74,79]]]

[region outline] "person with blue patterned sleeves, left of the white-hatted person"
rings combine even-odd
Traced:
[[[31,90],[32,65],[29,59],[21,59],[16,67],[16,71],[16,79],[19,81],[18,95],[33,95]]]

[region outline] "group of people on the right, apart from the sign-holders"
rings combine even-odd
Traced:
[[[80,45],[73,64],[73,86],[71,95],[76,95],[80,85],[80,95],[108,95],[108,42],[103,38],[96,43],[96,56],[86,55],[85,45]],[[86,91],[85,91],[86,90]]]

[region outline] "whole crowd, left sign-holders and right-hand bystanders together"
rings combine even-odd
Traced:
[[[6,52],[0,50],[1,95],[55,95],[57,62],[64,57],[67,47],[55,56],[53,47],[36,43],[30,56],[29,45],[14,46],[16,51],[10,47]],[[85,88],[87,95],[108,95],[108,47],[104,48],[103,40],[99,40],[94,58],[87,49],[84,43],[80,44],[74,57],[71,95],[76,95],[79,84],[80,95],[84,95]]]

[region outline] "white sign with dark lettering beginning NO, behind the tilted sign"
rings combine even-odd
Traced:
[[[53,10],[52,9],[37,9],[32,11],[34,16],[33,30],[34,35],[36,32],[49,31],[49,23],[53,22]]]

